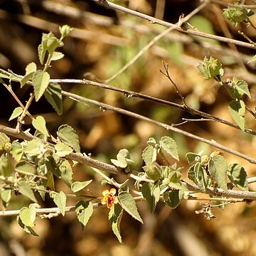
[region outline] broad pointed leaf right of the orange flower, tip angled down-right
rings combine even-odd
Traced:
[[[143,220],[139,215],[136,203],[132,195],[130,193],[122,192],[122,193],[119,193],[118,199],[119,199],[119,202],[121,203],[122,208],[127,213],[129,213],[129,215],[131,215],[136,220],[139,220],[139,222],[143,224]]]

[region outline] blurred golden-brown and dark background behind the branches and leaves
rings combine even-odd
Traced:
[[[225,3],[233,1],[216,2],[209,2],[193,16],[189,21],[190,26],[218,36],[245,41],[238,34],[238,30],[241,30],[252,41],[256,40],[253,28],[246,24],[235,27],[223,18]],[[201,1],[119,0],[115,3],[176,23],[181,14],[186,16]],[[245,1],[245,4],[256,3]],[[255,17],[252,17],[253,21],[256,22]],[[65,46],[60,49],[65,58],[54,62],[48,70],[51,78],[107,80],[166,29],[142,18],[105,9],[90,0],[0,0],[0,68],[24,75],[28,63],[33,61],[40,67],[37,47],[41,43],[42,33],[53,31],[59,36],[58,26],[64,24],[74,30],[65,38]],[[255,55],[254,50],[175,31],[154,43],[127,70],[112,80],[110,85],[181,103],[173,85],[159,72],[160,69],[164,70],[164,60],[169,63],[171,78],[189,106],[232,122],[228,114],[230,95],[217,82],[203,80],[196,68],[204,56],[210,55],[223,63],[224,80],[236,76],[248,82],[252,99],[245,101],[254,109],[255,64],[247,64]],[[196,118],[172,107],[124,97],[117,92],[89,85],[63,84],[62,87],[63,90],[143,114],[166,124],[180,124],[183,122],[182,118]],[[23,87],[21,90],[14,83],[13,89],[23,103],[28,100],[30,87]],[[16,123],[9,122],[8,119],[17,106],[9,92],[2,87],[1,124],[16,127]],[[34,116],[40,114],[45,117],[53,136],[61,124],[69,124],[80,136],[82,151],[107,163],[115,158],[119,149],[127,148],[131,159],[135,161],[134,169],[141,171],[141,154],[149,137],[159,139],[171,136],[178,144],[181,159],[178,166],[184,166],[183,175],[186,178],[186,152],[204,150],[209,154],[214,150],[206,144],[167,132],[153,124],[110,111],[102,112],[99,107],[82,105],[68,98],[63,99],[63,108],[63,115],[58,116],[42,98],[33,103],[29,111]],[[246,115],[246,119],[246,127],[255,129],[255,119],[250,115]],[[23,129],[28,129],[30,125],[30,120],[26,119]],[[206,139],[214,139],[242,154],[256,156],[255,138],[238,129],[215,122],[189,122],[178,128]],[[230,154],[224,153],[224,156],[229,164],[239,163],[245,167],[248,176],[255,176],[255,166],[252,164]],[[75,166],[74,176],[78,181],[94,178],[95,182],[89,189],[96,196],[100,196],[102,190],[107,188],[102,188],[101,177],[87,166]],[[115,178],[119,182],[125,180],[122,176]],[[252,184],[250,188],[253,191],[255,186]],[[69,192],[61,182],[56,183],[56,190]],[[55,207],[50,198],[40,203],[42,207]],[[75,201],[68,201],[69,206],[74,204]],[[9,208],[20,209],[27,205],[28,202],[19,196],[13,198]],[[75,213],[67,213],[65,218],[38,218],[35,228],[38,237],[24,233],[16,224],[15,218],[1,217],[0,255],[256,255],[255,203],[234,203],[226,206],[225,210],[215,208],[213,214],[216,220],[206,220],[203,215],[196,215],[195,210],[202,208],[201,203],[196,201],[184,201],[176,210],[159,203],[154,214],[150,213],[145,202],[138,203],[138,208],[144,225],[124,213],[121,223],[122,244],[119,244],[112,233],[107,208],[94,211],[84,233],[80,230]]]

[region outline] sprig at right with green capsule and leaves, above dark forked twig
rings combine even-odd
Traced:
[[[247,82],[238,78],[228,79],[227,82],[223,82],[221,77],[224,75],[222,64],[218,59],[213,57],[204,58],[203,62],[198,65],[198,70],[205,79],[215,79],[220,85],[224,86],[230,93],[230,97],[233,100],[228,105],[228,111],[230,116],[238,124],[242,131],[245,130],[245,102],[242,100],[244,95],[250,96]]]

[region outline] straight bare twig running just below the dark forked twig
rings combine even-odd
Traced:
[[[104,110],[112,110],[112,111],[118,112],[120,114],[125,114],[125,115],[127,115],[129,117],[134,117],[134,118],[139,119],[139,120],[144,120],[146,122],[150,122],[151,124],[156,124],[157,126],[163,127],[166,130],[171,130],[171,131],[176,132],[178,134],[182,134],[182,135],[184,135],[186,137],[190,137],[191,139],[196,139],[199,142],[204,142],[206,144],[214,146],[215,148],[221,149],[221,150],[226,151],[226,152],[228,152],[230,154],[233,154],[235,156],[239,156],[240,158],[245,159],[245,160],[249,161],[252,164],[256,164],[256,159],[252,159],[250,156],[246,156],[245,154],[241,154],[238,151],[235,151],[235,150],[230,149],[230,148],[228,148],[226,146],[223,146],[222,144],[219,144],[218,142],[215,142],[213,139],[212,140],[204,139],[202,137],[199,137],[199,136],[196,136],[196,135],[191,134],[189,132],[185,132],[185,131],[183,131],[181,129],[178,129],[178,128],[172,126],[172,125],[164,124],[162,122],[158,122],[158,121],[156,121],[154,119],[150,119],[149,117],[144,117],[141,114],[136,114],[136,113],[130,112],[128,110],[123,110],[123,109],[121,109],[119,107],[113,107],[111,105],[107,105],[105,103],[98,102],[96,100],[90,100],[90,99],[87,99],[87,98],[82,97],[80,95],[75,95],[75,94],[70,93],[70,92],[63,91],[62,95],[63,96],[67,96],[67,97],[71,97],[71,98],[76,99],[76,100],[79,100],[80,102],[91,103],[93,105],[97,105],[99,107],[102,107]]]

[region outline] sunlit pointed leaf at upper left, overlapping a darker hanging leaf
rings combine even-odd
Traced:
[[[36,102],[43,96],[49,85],[50,75],[46,71],[37,70],[33,74],[32,82],[36,95]]]

